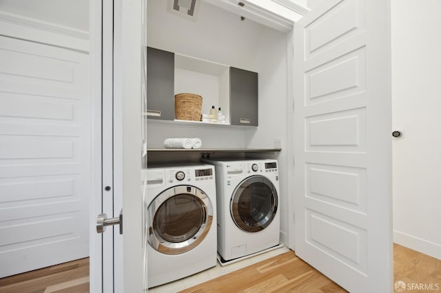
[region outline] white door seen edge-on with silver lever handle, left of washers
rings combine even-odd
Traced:
[[[146,161],[141,152],[145,137],[141,99],[146,2],[91,1],[90,5],[95,114],[91,292],[143,292],[147,274],[141,164]],[[121,208],[123,235],[118,226],[97,234],[96,217],[101,213],[118,217]]]

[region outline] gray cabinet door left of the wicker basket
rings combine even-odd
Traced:
[[[174,53],[147,47],[147,116],[174,120]]]

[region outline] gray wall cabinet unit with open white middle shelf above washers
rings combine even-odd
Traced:
[[[199,85],[201,82],[194,80],[194,83],[190,85],[187,76],[182,76],[182,72],[185,71],[218,78],[218,92],[212,95],[218,94],[218,100],[205,102],[208,102],[208,105],[221,107],[223,113],[229,117],[227,123],[258,126],[258,74],[256,72],[179,54],[175,56],[173,52],[152,47],[147,47],[147,118],[174,120],[176,87],[178,87],[176,89],[178,92],[199,93],[201,91],[201,85]],[[183,82],[183,80],[186,81]],[[181,89],[183,85],[185,88]],[[206,87],[202,89],[207,91]],[[210,97],[210,93],[207,97]]]

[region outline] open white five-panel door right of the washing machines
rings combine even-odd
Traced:
[[[388,0],[294,25],[296,254],[349,292],[392,290]]]

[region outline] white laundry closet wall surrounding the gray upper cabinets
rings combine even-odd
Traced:
[[[259,127],[189,127],[147,123],[148,147],[163,147],[165,138],[198,137],[204,148],[273,148],[274,138],[287,140],[287,34],[201,1],[196,21],[167,13],[163,0],[149,0],[147,45],[228,66],[258,72]],[[280,206],[287,207],[287,150],[279,160]],[[287,210],[280,225],[283,241]]]

